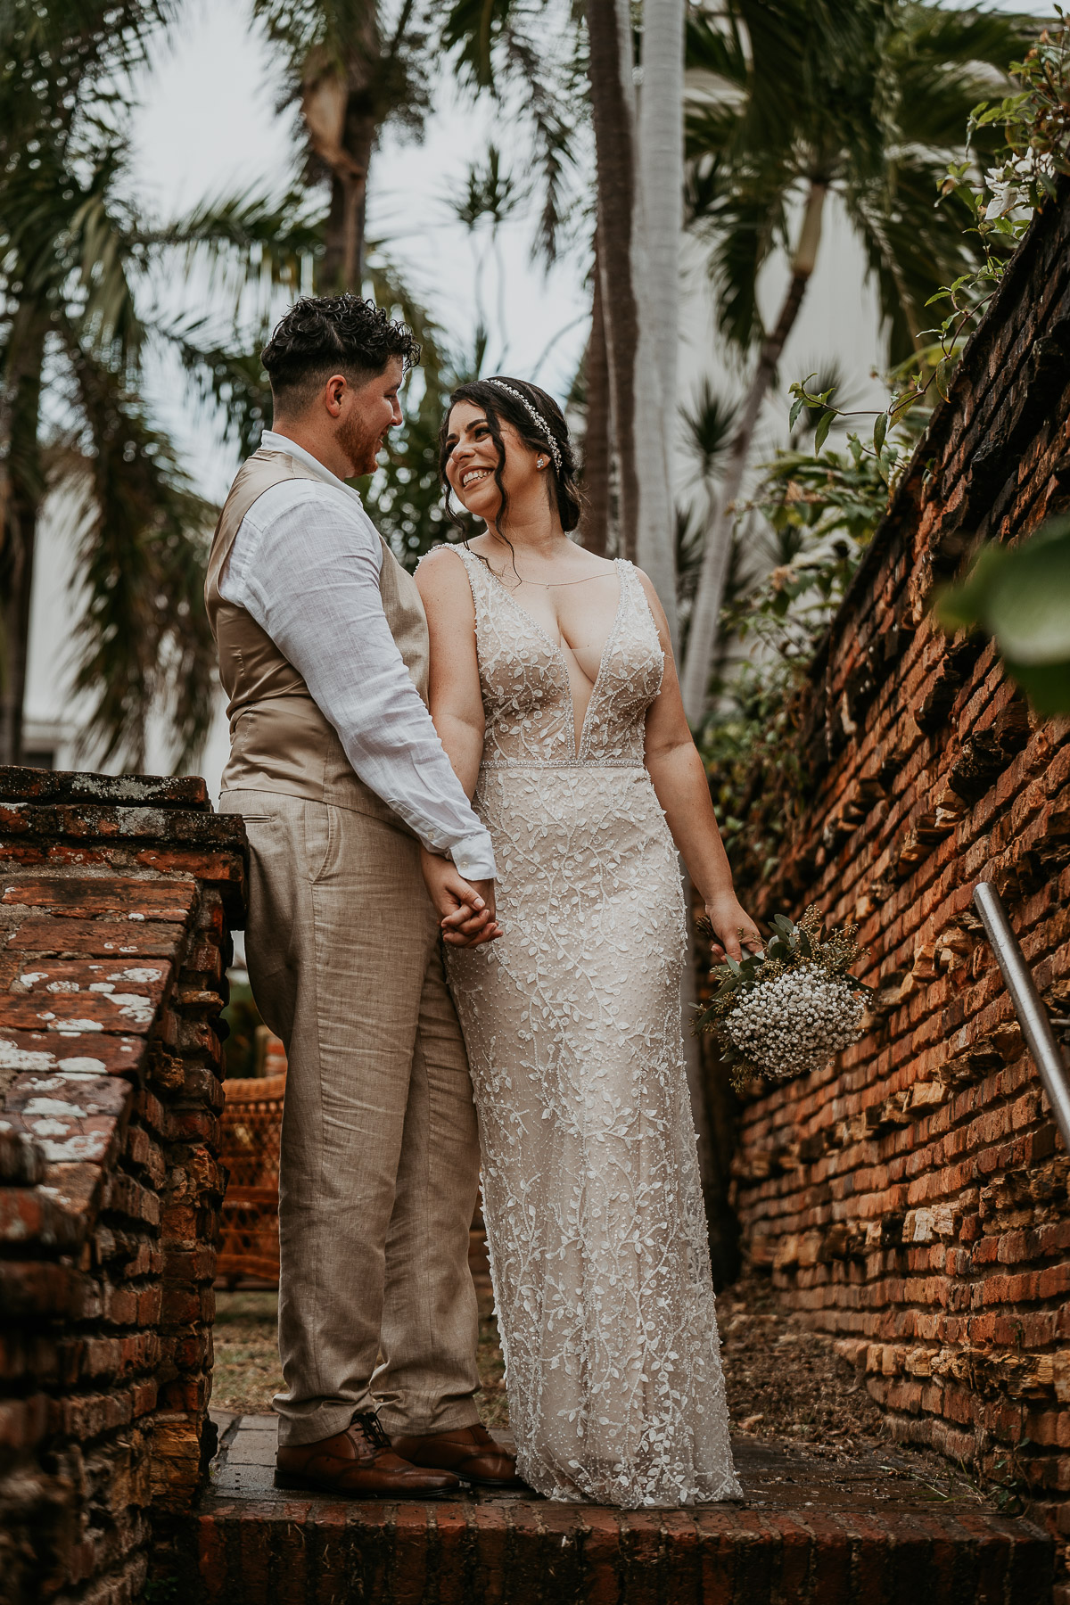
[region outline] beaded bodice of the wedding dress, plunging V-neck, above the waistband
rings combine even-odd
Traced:
[[[486,563],[464,546],[475,602],[486,733],[483,767],[643,762],[646,709],[661,690],[664,653],[632,563],[616,560],[621,595],[576,745],[565,653]]]

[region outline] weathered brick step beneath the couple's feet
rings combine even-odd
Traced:
[[[189,1518],[201,1605],[1049,1605],[1028,1522],[924,1499],[902,1462],[844,1469],[741,1440],[743,1505],[622,1512],[531,1497],[371,1504],[271,1488],[249,1424]]]

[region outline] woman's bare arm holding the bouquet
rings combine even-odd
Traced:
[[[732,870],[717,830],[706,770],[683,713],[664,608],[642,570],[640,579],[666,655],[661,692],[646,713],[646,770],[672,839],[720,939],[720,944],[714,944],[714,957],[720,958],[727,952],[732,958],[740,958],[740,931],[748,947],[760,947],[762,939],[732,888]]]

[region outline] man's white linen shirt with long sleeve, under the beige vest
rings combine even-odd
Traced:
[[[242,518],[220,592],[244,607],[303,676],[345,756],[432,852],[468,880],[494,878],[494,849],[446,758],[390,634],[383,549],[359,493],[287,435],[265,429],[314,480],[284,480]]]

